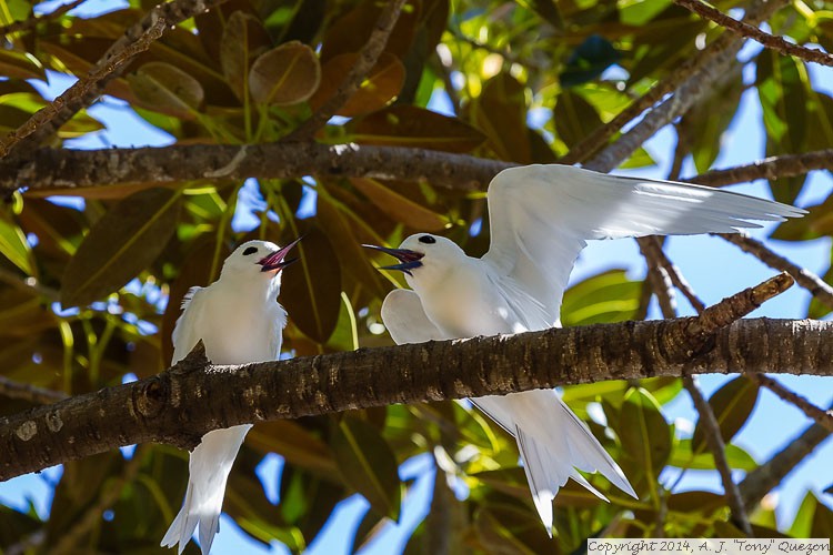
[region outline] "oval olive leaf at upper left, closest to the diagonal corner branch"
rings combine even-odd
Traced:
[[[198,80],[165,62],[145,63],[128,82],[148,108],[183,119],[192,119],[205,98]]]

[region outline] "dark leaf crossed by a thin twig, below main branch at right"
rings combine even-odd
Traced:
[[[720,433],[724,443],[729,443],[734,434],[746,423],[752,410],[757,402],[757,382],[746,376],[737,376],[729,381],[709,400],[709,405],[714,412],[714,417],[720,425]],[[692,437],[694,453],[705,450],[705,428],[697,421]]]

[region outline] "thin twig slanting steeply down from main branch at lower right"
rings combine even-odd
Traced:
[[[741,497],[741,491],[737,484],[732,480],[732,471],[726,460],[726,444],[723,442],[723,436],[720,433],[720,424],[717,418],[712,411],[712,406],[703,396],[703,393],[694,383],[694,377],[691,375],[683,376],[683,387],[691,395],[691,400],[694,402],[694,407],[697,410],[700,415],[700,424],[705,430],[705,443],[709,446],[709,451],[712,452],[714,457],[714,466],[720,473],[720,478],[723,482],[723,490],[726,492],[729,497],[729,507],[732,511],[732,517],[735,524],[737,524],[741,531],[746,534],[746,537],[753,537],[752,525],[749,522],[749,515],[746,514],[746,507],[743,505],[743,498]]]

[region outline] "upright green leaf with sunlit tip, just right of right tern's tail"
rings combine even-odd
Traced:
[[[622,447],[643,465],[648,480],[654,480],[671,455],[671,426],[660,404],[642,387],[625,394],[618,423]]]

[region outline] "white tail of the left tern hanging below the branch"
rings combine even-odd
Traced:
[[[243,424],[214,430],[202,436],[188,464],[190,476],[185,501],[160,545],[173,547],[179,544],[181,554],[199,524],[200,548],[202,555],[208,555],[214,534],[220,531],[225,481],[251,427],[251,424]]]

